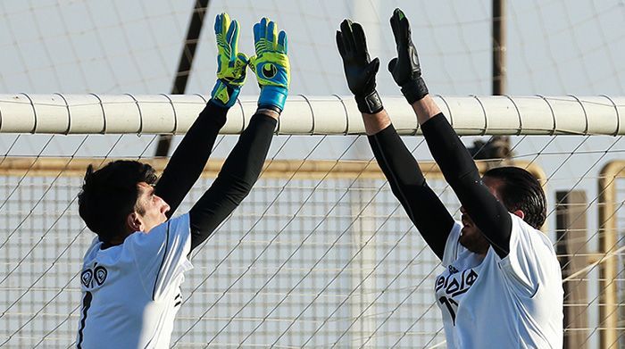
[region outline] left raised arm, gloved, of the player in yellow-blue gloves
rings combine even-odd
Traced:
[[[155,187],[156,195],[170,205],[168,218],[202,174],[219,130],[226,123],[226,113],[237,101],[246,80],[248,60],[245,54],[238,52],[238,28],[238,22],[230,21],[227,13],[215,18],[218,68],[211,100],[171,155]]]

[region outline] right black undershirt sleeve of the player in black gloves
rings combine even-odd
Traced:
[[[510,252],[512,232],[508,210],[482,184],[471,154],[443,113],[424,122],[421,130],[447,183],[495,252],[504,258]]]

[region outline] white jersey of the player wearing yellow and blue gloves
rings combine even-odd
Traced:
[[[77,346],[169,347],[183,273],[193,268],[188,214],[101,246],[96,237],[83,262]]]

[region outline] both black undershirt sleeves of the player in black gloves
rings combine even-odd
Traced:
[[[512,219],[504,205],[491,195],[460,138],[442,113],[421,126],[430,152],[446,181],[471,219],[502,258],[509,252]],[[404,210],[430,248],[442,259],[452,219],[437,195],[428,187],[418,163],[393,125],[369,137],[379,167]]]

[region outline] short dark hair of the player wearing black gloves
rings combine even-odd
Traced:
[[[540,229],[546,220],[546,196],[536,177],[519,167],[497,167],[487,170],[484,177],[499,179],[497,194],[508,211],[521,210],[525,220]]]

